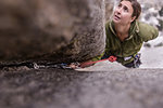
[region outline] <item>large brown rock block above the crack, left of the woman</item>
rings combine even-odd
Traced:
[[[104,37],[104,0],[0,0],[0,62],[86,60]]]

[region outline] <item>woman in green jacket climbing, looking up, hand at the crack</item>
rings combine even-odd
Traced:
[[[121,0],[112,19],[105,24],[105,50],[89,63],[114,56],[123,66],[138,68],[141,64],[138,52],[142,43],[159,36],[155,27],[138,21],[140,13],[141,6],[137,0]],[[87,63],[84,62],[79,66],[90,66]]]

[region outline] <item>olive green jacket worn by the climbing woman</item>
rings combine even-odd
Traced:
[[[153,26],[136,21],[130,25],[129,37],[121,41],[115,33],[114,23],[108,22],[105,24],[105,51],[92,60],[98,60],[106,54],[116,56],[117,62],[125,65],[134,60],[134,57],[130,56],[135,56],[140,51],[143,42],[156,38],[159,31]],[[129,59],[125,59],[127,57]]]

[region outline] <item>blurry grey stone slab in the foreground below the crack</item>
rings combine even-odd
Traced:
[[[162,108],[162,69],[5,69],[0,71],[0,107]]]

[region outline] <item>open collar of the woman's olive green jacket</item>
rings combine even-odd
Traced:
[[[109,26],[110,26],[111,31],[116,36],[113,21],[111,21]],[[139,27],[138,27],[138,22],[137,21],[135,21],[130,24],[129,37],[125,40],[131,39],[134,37],[135,32],[139,32]]]

